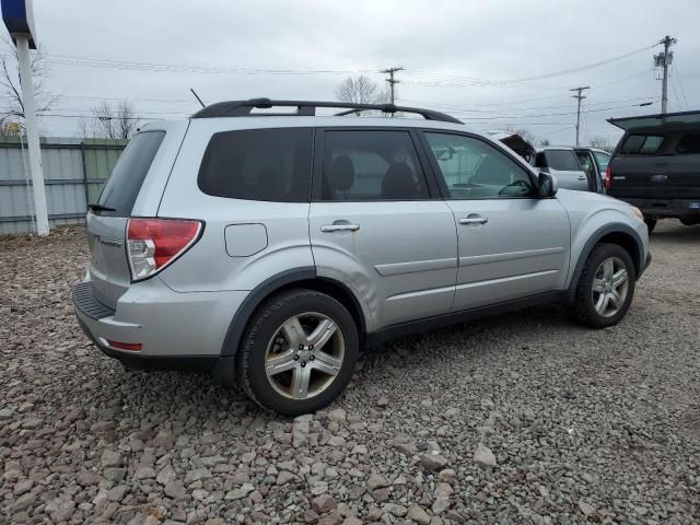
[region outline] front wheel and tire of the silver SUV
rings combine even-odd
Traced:
[[[610,272],[609,266],[604,265],[612,265],[612,271]],[[622,269],[626,271],[626,281],[619,272]],[[615,276],[618,276],[617,284]],[[618,244],[597,244],[576,284],[576,295],[571,308],[574,319],[590,328],[617,325],[632,303],[635,282],[637,272],[629,253]],[[614,292],[617,293],[617,301]],[[602,299],[604,294],[608,295],[607,301]]]

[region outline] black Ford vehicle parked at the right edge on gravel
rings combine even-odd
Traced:
[[[650,233],[664,218],[700,224],[700,110],[608,121],[625,136],[605,174],[607,194],[641,209]]]

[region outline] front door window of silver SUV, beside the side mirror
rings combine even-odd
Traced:
[[[431,133],[425,138],[453,199],[502,199],[532,192],[527,172],[478,139]]]

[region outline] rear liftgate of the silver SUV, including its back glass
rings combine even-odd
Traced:
[[[100,194],[96,203],[103,209],[88,212],[93,293],[112,308],[131,283],[125,244],[127,220],[155,215],[186,129],[185,121],[168,122],[136,135]]]

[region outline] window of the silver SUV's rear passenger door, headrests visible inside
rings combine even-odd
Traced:
[[[325,131],[322,200],[428,199],[408,131]]]

